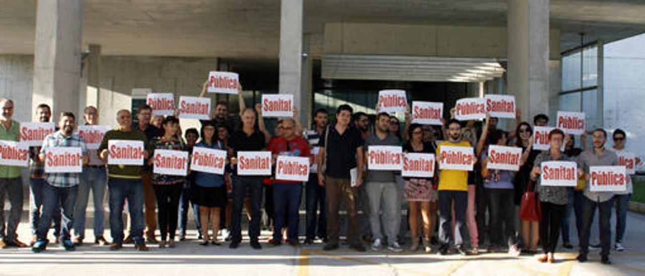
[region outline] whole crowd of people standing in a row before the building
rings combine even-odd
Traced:
[[[205,92],[206,85],[204,84]],[[241,87],[239,88],[241,89]],[[202,94],[202,95],[203,95]],[[137,110],[137,124],[132,123],[128,110],[117,112],[118,128],[104,134],[97,150],[88,150],[84,141],[74,133],[74,113],[63,112],[57,121],[57,131],[48,135],[41,147],[30,148],[30,226],[34,239],[32,249],[43,251],[48,245],[47,233],[54,222],[55,242],[66,250],[83,244],[86,206],[90,190],[94,201],[95,244],[119,250],[124,243],[134,242],[137,250],[146,251],[146,242],[160,248],[175,246],[186,239],[188,209],[193,208],[200,244],[221,245],[219,239],[230,239],[229,248],[242,241],[241,213],[246,209],[250,246],[261,249],[259,241],[262,203],[273,221],[269,244],[279,246],[288,242],[299,246],[299,208],[305,193],[306,234],[304,243],[317,239],[325,242],[324,250],[335,250],[341,244],[341,202],[347,214],[346,242],[350,248],[365,251],[363,240],[368,239],[371,250],[386,247],[391,251],[409,250],[430,253],[438,244],[438,253],[480,253],[508,251],[511,255],[539,253],[541,262],[553,262],[559,236],[564,248],[572,248],[569,239],[570,213],[574,210],[579,235],[578,260],[587,260],[590,247],[590,228],[595,210],[599,209],[600,255],[610,263],[610,217],[617,205],[615,250],[623,250],[626,228],[626,204],[632,192],[631,181],[624,193],[590,192],[590,166],[615,165],[615,151],[623,150],[626,134],[612,133],[614,148],[605,148],[608,134],[597,129],[591,132],[591,149],[582,135],[583,150],[574,148],[573,136],[554,129],[548,135],[550,149],[533,149],[533,126],[546,126],[548,117],[540,114],[533,124],[519,121],[513,132],[497,128],[498,119],[486,117],[482,128],[475,121],[460,122],[451,118],[441,128],[412,123],[406,112],[404,128],[397,117],[380,112],[373,117],[353,113],[348,104],[330,113],[319,109],[313,113],[312,128],[304,130],[297,119],[278,121],[275,133],[264,124],[259,105],[246,108],[239,95],[240,112],[228,117],[226,103],[215,106],[212,119],[201,121],[201,130],[186,130],[184,137],[175,116],[152,118],[150,106]],[[0,139],[18,141],[19,123],[12,120],[13,103],[1,99]],[[377,104],[377,109],[379,104]],[[409,111],[409,110],[408,110]],[[451,112],[452,113],[452,112]],[[519,112],[518,112],[519,113]],[[50,121],[51,109],[46,104],[36,108],[41,122]],[[98,122],[97,109],[84,110],[85,124]],[[157,120],[159,119],[159,120]],[[152,123],[155,122],[155,123]],[[156,125],[156,126],[155,126]],[[110,140],[131,140],[144,143],[144,165],[107,164]],[[564,151],[561,150],[564,144]],[[519,171],[490,170],[487,156],[489,145],[517,146],[522,149]],[[44,173],[46,148],[80,147],[83,151],[82,173]],[[435,153],[444,146],[471,147],[475,153],[474,169],[439,170],[434,177],[402,177],[401,172],[368,170],[369,146],[401,146],[404,153]],[[224,174],[188,171],[186,176],[153,172],[155,150],[181,150],[192,154],[194,147],[228,152]],[[310,158],[310,177],[305,183],[237,174],[237,152],[268,151],[272,159],[279,155]],[[578,166],[578,186],[575,188],[544,186],[540,181],[542,162],[575,161]],[[103,236],[104,198],[109,192],[109,223],[112,242]],[[263,193],[265,195],[263,199]],[[539,198],[540,217],[522,217],[519,213],[522,198]],[[16,230],[22,206],[21,170],[15,166],[0,166],[0,205],[5,195],[12,205],[8,223],[0,212],[0,247],[26,244],[17,239]],[[407,228],[410,239],[401,231],[403,201],[408,203]],[[128,208],[129,225],[124,227],[123,210]],[[1,208],[0,208],[1,209]],[[488,214],[488,216],[486,216]],[[361,215],[366,220],[361,221]],[[488,219],[487,219],[488,217]],[[438,222],[438,223],[437,223]],[[519,222],[519,224],[518,224]],[[363,227],[364,226],[364,227]],[[129,235],[124,235],[128,228]],[[209,233],[209,228],[212,232]],[[438,240],[435,230],[438,228]],[[145,229],[145,234],[144,234]],[[159,230],[159,237],[155,231]],[[72,230],[74,237],[72,238]],[[228,233],[230,232],[230,235]],[[466,241],[466,238],[469,241]],[[470,246],[466,246],[470,244]]]

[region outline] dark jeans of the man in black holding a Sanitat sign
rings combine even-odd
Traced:
[[[242,241],[241,213],[244,198],[248,193],[251,205],[251,221],[248,224],[248,237],[257,242],[260,236],[260,206],[262,204],[262,177],[233,176],[233,210],[231,218],[231,235],[233,242]]]

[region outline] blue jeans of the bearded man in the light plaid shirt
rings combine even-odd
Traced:
[[[48,183],[43,185],[43,215],[38,220],[38,229],[36,230],[38,241],[46,241],[54,213],[61,214],[61,235],[59,236],[61,241],[70,239],[78,188],[78,185],[64,188]]]

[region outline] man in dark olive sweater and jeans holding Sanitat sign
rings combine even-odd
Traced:
[[[139,110],[141,112],[141,109]],[[148,118],[149,119],[149,118]],[[132,230],[130,235],[134,240],[135,248],[139,251],[148,251],[143,241],[143,159],[148,157],[152,150],[144,132],[132,127],[132,114],[128,110],[117,112],[119,128],[110,130],[103,136],[99,146],[99,157],[108,159],[137,159],[142,165],[108,164],[108,190],[110,191],[110,233],[112,245],[110,250],[123,248],[123,202],[128,201],[128,213]],[[143,143],[143,156],[139,156],[138,149],[132,147],[117,147],[113,145],[108,149],[110,140],[141,141]],[[126,158],[130,157],[130,158]],[[141,159],[139,159],[141,157]],[[154,207],[153,207],[154,208]],[[154,209],[153,209],[154,210]]]

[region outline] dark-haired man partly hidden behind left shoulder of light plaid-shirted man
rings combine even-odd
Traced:
[[[36,117],[40,123],[48,123],[52,117],[52,109],[47,104],[38,104]],[[38,219],[41,215],[43,205],[43,185],[45,185],[45,163],[38,158],[41,147],[32,146],[29,148],[29,223],[32,226],[34,238],[30,245],[36,242],[36,229]],[[58,236],[61,233],[61,212],[54,213],[54,236],[55,243],[58,243]]]

